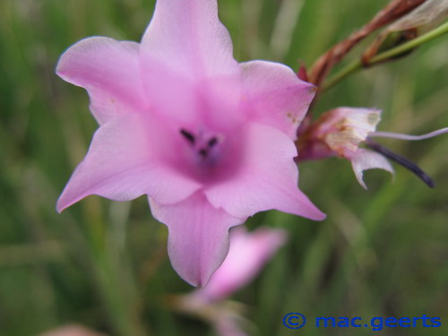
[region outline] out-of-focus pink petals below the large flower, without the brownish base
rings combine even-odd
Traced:
[[[246,228],[233,228],[224,263],[213,273],[209,284],[195,295],[209,301],[230,296],[254,279],[285,240],[286,232],[281,229],[258,228],[247,232]]]

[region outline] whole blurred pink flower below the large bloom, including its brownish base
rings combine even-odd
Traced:
[[[178,297],[177,309],[202,317],[221,336],[244,336],[242,324],[248,324],[241,314],[241,305],[224,301],[245,287],[262,271],[273,254],[286,242],[286,232],[280,228],[246,228],[230,230],[230,248],[224,263],[213,273],[202,289]]]

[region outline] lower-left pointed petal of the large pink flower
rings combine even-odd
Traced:
[[[154,123],[150,123],[154,124]],[[57,202],[57,211],[82,198],[97,194],[115,201],[129,201],[150,194],[162,203],[179,202],[201,187],[155,157],[141,117],[127,115],[102,125],[93,136],[89,152],[73,172]],[[152,146],[151,146],[152,144]],[[165,151],[165,150],[164,150]]]

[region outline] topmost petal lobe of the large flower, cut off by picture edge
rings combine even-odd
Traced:
[[[142,39],[142,53],[186,78],[238,71],[215,0],[159,0]]]

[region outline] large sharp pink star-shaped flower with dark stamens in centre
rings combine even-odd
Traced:
[[[214,0],[159,0],[142,43],[94,37],[61,57],[99,122],[57,210],[90,194],[147,194],[179,275],[205,285],[228,228],[277,209],[324,214],[297,188],[294,140],[314,87],[288,67],[238,65]]]

